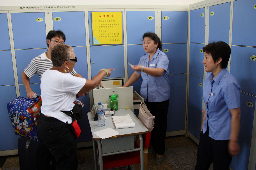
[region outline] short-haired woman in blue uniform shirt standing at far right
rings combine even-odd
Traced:
[[[206,45],[204,67],[209,72],[205,78],[203,98],[205,114],[201,125],[200,141],[195,169],[229,169],[232,156],[240,151],[240,86],[225,68],[231,54],[223,41]]]

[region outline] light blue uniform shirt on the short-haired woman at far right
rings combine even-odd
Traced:
[[[237,79],[226,69],[215,77],[208,73],[204,84],[204,102],[206,117],[203,133],[209,126],[209,137],[215,140],[230,139],[231,114],[229,109],[240,107],[240,85]]]

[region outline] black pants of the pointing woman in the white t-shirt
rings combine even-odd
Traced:
[[[43,114],[40,114],[37,122],[38,137],[55,156],[56,169],[76,170],[78,166],[76,136],[70,126],[67,122]]]

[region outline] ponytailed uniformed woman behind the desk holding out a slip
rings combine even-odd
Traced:
[[[162,43],[155,33],[147,32],[143,35],[143,48],[146,52],[138,65],[131,66],[134,73],[123,85],[127,87],[142,77],[141,96],[144,98],[148,110],[153,116],[154,128],[151,133],[150,149],[148,153],[156,152],[156,164],[162,163],[165,151],[165,136],[167,128],[167,110],[170,96],[168,81],[169,60],[162,49]]]

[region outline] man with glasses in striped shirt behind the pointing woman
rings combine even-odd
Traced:
[[[51,50],[52,48],[59,44],[64,43],[66,40],[66,36],[61,31],[54,31],[51,30],[47,34],[47,46],[48,51],[44,52],[43,54],[39,55],[38,57],[35,57],[31,60],[31,62],[28,64],[28,66],[23,70],[22,72],[22,81],[27,91],[27,97],[31,98],[35,92],[31,89],[29,84],[29,79],[31,79],[35,74],[38,74],[39,79],[41,80],[42,74],[47,70],[52,68],[52,62],[51,62]],[[80,74],[78,74],[74,69],[69,72],[71,75],[82,77]],[[82,96],[81,94],[79,96]]]

